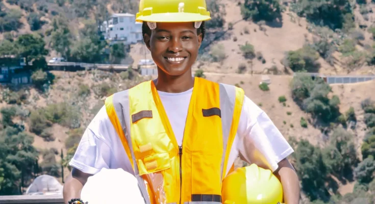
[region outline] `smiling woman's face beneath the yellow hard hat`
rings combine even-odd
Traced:
[[[157,23],[151,36],[144,41],[158,67],[166,74],[178,76],[194,64],[202,43],[192,22]]]

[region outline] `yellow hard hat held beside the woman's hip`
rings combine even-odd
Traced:
[[[271,170],[252,164],[223,180],[221,196],[225,204],[278,204],[283,202],[283,187]]]

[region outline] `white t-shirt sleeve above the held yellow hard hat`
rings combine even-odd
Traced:
[[[292,147],[283,137],[268,115],[247,96],[241,111],[237,131],[240,154],[248,163],[267,167],[272,172],[278,163],[293,153]]]

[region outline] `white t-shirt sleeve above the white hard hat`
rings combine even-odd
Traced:
[[[105,133],[110,121],[103,107],[84,132],[78,148],[69,165],[84,173],[95,174],[102,168],[109,168],[112,156],[110,137]],[[113,127],[112,127],[113,128]]]

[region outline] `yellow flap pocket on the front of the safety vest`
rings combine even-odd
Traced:
[[[154,173],[170,168],[170,158],[167,152],[157,153],[137,159],[139,175]]]

